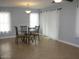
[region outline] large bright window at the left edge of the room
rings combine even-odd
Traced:
[[[10,13],[0,12],[0,32],[10,31]]]

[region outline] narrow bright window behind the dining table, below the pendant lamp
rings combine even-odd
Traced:
[[[31,13],[30,14],[30,27],[35,27],[39,25],[39,14]]]

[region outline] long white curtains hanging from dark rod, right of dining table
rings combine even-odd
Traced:
[[[43,35],[58,39],[58,20],[59,12],[57,10],[41,13]]]

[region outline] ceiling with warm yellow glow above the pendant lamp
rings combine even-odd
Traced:
[[[42,9],[51,6],[52,0],[0,0],[0,7],[27,7]]]

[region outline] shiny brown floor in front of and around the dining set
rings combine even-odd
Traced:
[[[35,44],[0,40],[1,59],[79,59],[79,48],[42,37]]]

